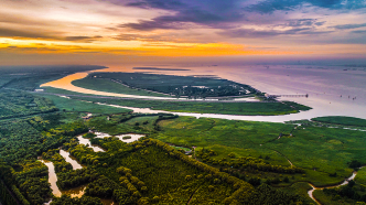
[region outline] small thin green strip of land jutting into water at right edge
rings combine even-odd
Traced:
[[[342,126],[366,127],[366,119],[352,118],[345,116],[320,117],[320,118],[313,118],[311,120],[319,122],[342,125]]]

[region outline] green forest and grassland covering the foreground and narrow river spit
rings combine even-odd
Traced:
[[[3,114],[0,120],[0,196],[11,203],[37,205],[53,198],[53,205],[100,205],[101,199],[120,205],[312,204],[314,202],[306,195],[310,190],[306,182],[316,186],[337,184],[366,163],[365,133],[327,128],[331,122],[301,121],[298,126],[141,115],[45,94],[14,89],[1,89],[1,93],[4,93],[1,102],[10,105],[11,111]],[[204,112],[207,109],[238,114],[240,109],[251,115],[310,109],[294,102],[191,104],[96,96],[83,99]],[[21,111],[17,112],[17,106]],[[260,106],[261,110],[257,109]],[[86,112],[94,115],[84,120]],[[125,143],[116,137],[96,138],[89,130],[147,137]],[[94,152],[79,144],[76,139],[79,134],[105,152]],[[83,169],[73,170],[58,153],[61,147],[80,162]],[[196,147],[192,155],[185,155],[184,151],[192,147]],[[37,157],[54,164],[61,190],[82,185],[86,187],[84,196],[53,196],[47,166],[37,161]],[[356,184],[351,182],[340,188],[315,191],[315,197],[324,204],[364,202],[366,174],[363,169],[358,172]]]

